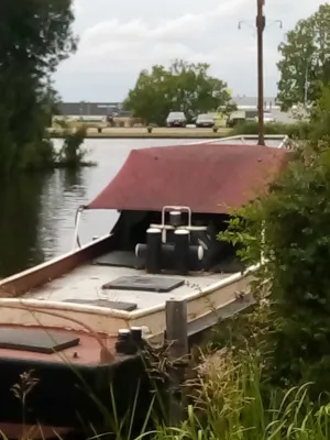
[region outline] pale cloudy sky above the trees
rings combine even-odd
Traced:
[[[80,43],[56,74],[64,100],[121,101],[142,68],[174,58],[207,62],[234,95],[256,95],[255,0],[73,1]],[[321,3],[265,0],[267,96],[276,95],[277,45]]]

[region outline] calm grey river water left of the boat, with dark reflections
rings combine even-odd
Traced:
[[[97,196],[132,148],[185,142],[194,140],[87,140],[88,158],[96,167],[21,176],[0,188],[0,277],[68,252],[77,208]],[[117,217],[116,211],[84,212],[80,241],[109,232]]]

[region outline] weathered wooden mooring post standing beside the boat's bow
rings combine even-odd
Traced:
[[[169,394],[168,422],[177,427],[183,420],[184,403],[180,385],[188,355],[187,304],[185,300],[166,301],[166,342],[168,344]]]

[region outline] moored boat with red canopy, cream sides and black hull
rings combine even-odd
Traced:
[[[0,282],[0,395],[7,403],[0,424],[22,424],[12,386],[24,372],[37,382],[26,398],[26,426],[101,424],[88,394],[113,410],[110,380],[122,416],[139,384],[139,398],[150,402],[136,351],[144,340],[162,342],[167,300],[186,301],[190,339],[251,306],[256,267],[237,261],[217,233],[231,209],[266,191],[285,165],[287,136],[266,142],[232,136],[133,150],[110,184],[79,207],[75,249]],[[109,234],[81,245],[81,215],[110,209],[120,215]]]

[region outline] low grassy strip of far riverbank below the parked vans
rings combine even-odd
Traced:
[[[52,138],[63,138],[64,130],[48,129]],[[212,129],[168,129],[156,128],[151,133],[146,128],[96,128],[87,129],[88,139],[218,139],[231,134],[231,130],[221,128],[218,132]]]

